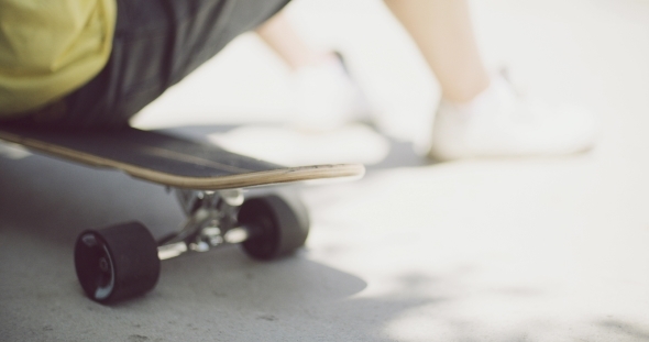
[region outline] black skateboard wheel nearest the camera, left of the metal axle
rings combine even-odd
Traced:
[[[87,230],[75,245],[75,268],[81,287],[95,301],[140,296],[157,283],[157,244],[139,222]]]

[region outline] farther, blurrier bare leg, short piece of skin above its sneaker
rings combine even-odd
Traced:
[[[294,70],[336,58],[331,53],[319,52],[308,46],[295,33],[282,12],[271,18],[255,32]]]

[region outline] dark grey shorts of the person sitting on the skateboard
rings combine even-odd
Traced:
[[[23,123],[116,128],[289,0],[117,0],[108,64]]]

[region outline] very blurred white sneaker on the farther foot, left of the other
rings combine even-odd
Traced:
[[[348,73],[340,54],[296,71],[295,124],[306,131],[328,131],[369,118],[367,101]]]

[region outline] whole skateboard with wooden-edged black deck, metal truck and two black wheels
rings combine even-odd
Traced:
[[[360,164],[285,167],[216,145],[133,128],[63,130],[0,125],[0,140],[33,152],[108,167],[165,186],[187,216],[179,231],[155,240],[139,222],[86,230],[75,243],[75,269],[88,297],[111,304],[153,289],[161,260],[240,243],[256,260],[300,249],[309,233],[301,202],[277,195],[245,199],[244,189],[360,178]]]

